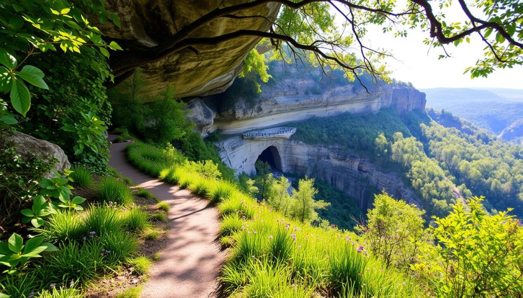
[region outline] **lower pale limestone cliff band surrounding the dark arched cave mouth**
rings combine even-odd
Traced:
[[[336,188],[358,200],[360,208],[366,210],[374,189],[385,189],[395,198],[404,199],[419,205],[417,195],[412,188],[403,183],[394,172],[382,169],[367,158],[347,154],[337,147],[308,145],[303,142],[276,140],[246,140],[231,137],[221,141],[222,160],[238,173],[255,174],[254,163],[259,154],[273,147],[276,167],[282,172],[309,175],[330,182]]]

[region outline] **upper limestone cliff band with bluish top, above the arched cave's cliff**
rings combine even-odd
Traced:
[[[313,116],[326,117],[340,113],[376,113],[383,108],[394,108],[404,113],[425,110],[425,93],[414,88],[385,85],[365,90],[353,90],[353,85],[330,87],[319,94],[311,94],[313,80],[283,79],[276,86],[262,86],[259,103],[249,106],[238,99],[234,106],[217,113],[212,129],[221,128],[225,134],[249,129],[306,120]],[[318,93],[316,91],[316,93]]]

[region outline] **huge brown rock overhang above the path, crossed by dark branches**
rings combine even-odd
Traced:
[[[96,24],[104,34],[129,46],[154,46],[211,10],[242,3],[242,0],[106,0],[106,8],[118,16],[121,27],[111,22]],[[190,38],[214,37],[240,29],[266,31],[276,18],[280,4],[268,3],[242,11],[260,18],[216,18],[191,33]],[[94,20],[93,20],[94,21]],[[223,92],[241,71],[242,61],[260,38],[240,37],[217,45],[198,45],[198,54],[182,50],[160,62],[143,67],[147,86],[143,92],[156,94],[167,87],[176,97],[206,96]]]

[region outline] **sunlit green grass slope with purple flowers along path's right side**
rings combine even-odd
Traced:
[[[162,149],[139,142],[127,148],[129,160],[142,171],[217,204],[220,243],[231,248],[219,276],[222,296],[424,296],[414,280],[367,253],[367,244],[352,232],[290,220],[258,204],[233,182],[203,177],[183,162],[168,162]],[[358,249],[360,245],[364,247]]]

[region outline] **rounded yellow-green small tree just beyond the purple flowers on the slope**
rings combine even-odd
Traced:
[[[374,209],[367,213],[367,223],[356,227],[369,250],[383,259],[385,266],[408,269],[431,237],[423,229],[424,210],[382,192],[374,196]]]

